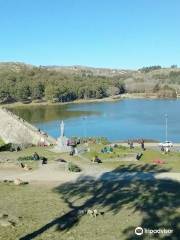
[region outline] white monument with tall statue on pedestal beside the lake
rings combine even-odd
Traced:
[[[68,146],[68,138],[65,136],[65,127],[64,122],[60,123],[60,137],[57,139],[57,145],[55,146],[55,150],[58,152],[70,152],[72,151],[72,147]]]

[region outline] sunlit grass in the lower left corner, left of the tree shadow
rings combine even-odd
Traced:
[[[17,240],[24,234],[54,219],[63,209],[67,209],[57,194],[42,186],[17,187],[0,184],[0,191],[2,196],[0,198],[0,212],[22,217],[17,228],[0,227],[1,240]],[[45,234],[45,236],[44,239],[51,239],[48,238],[50,233]]]

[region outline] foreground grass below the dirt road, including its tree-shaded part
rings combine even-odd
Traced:
[[[0,226],[1,240],[34,239],[28,235],[32,233],[37,240],[131,240],[138,239],[134,235],[137,226],[173,228],[175,236],[170,239],[178,240],[179,189],[178,183],[163,180],[103,183],[84,178],[55,189],[0,184],[0,212],[22,217],[14,228]],[[79,206],[105,215],[96,219],[83,215],[75,221],[77,215],[68,214]]]

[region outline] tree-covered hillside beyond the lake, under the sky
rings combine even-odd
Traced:
[[[180,69],[161,66],[137,71],[83,66],[33,66],[0,63],[0,102],[101,99],[119,94],[143,93],[176,98],[180,92]]]

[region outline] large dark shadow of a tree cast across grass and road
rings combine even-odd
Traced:
[[[153,172],[162,171],[162,167],[157,165],[124,165],[102,174],[98,179],[81,176],[75,182],[62,184],[54,191],[60,194],[70,210],[20,240],[34,239],[53,226],[56,226],[58,231],[68,231],[79,223],[87,209],[99,206],[106,209],[106,213],[115,215],[127,204],[132,212],[138,211],[142,214],[142,228],[173,230],[170,235],[154,234],[153,237],[178,240],[180,183],[155,179]],[[150,239],[149,234],[136,236],[136,227],[129,226],[123,231],[127,240]]]

